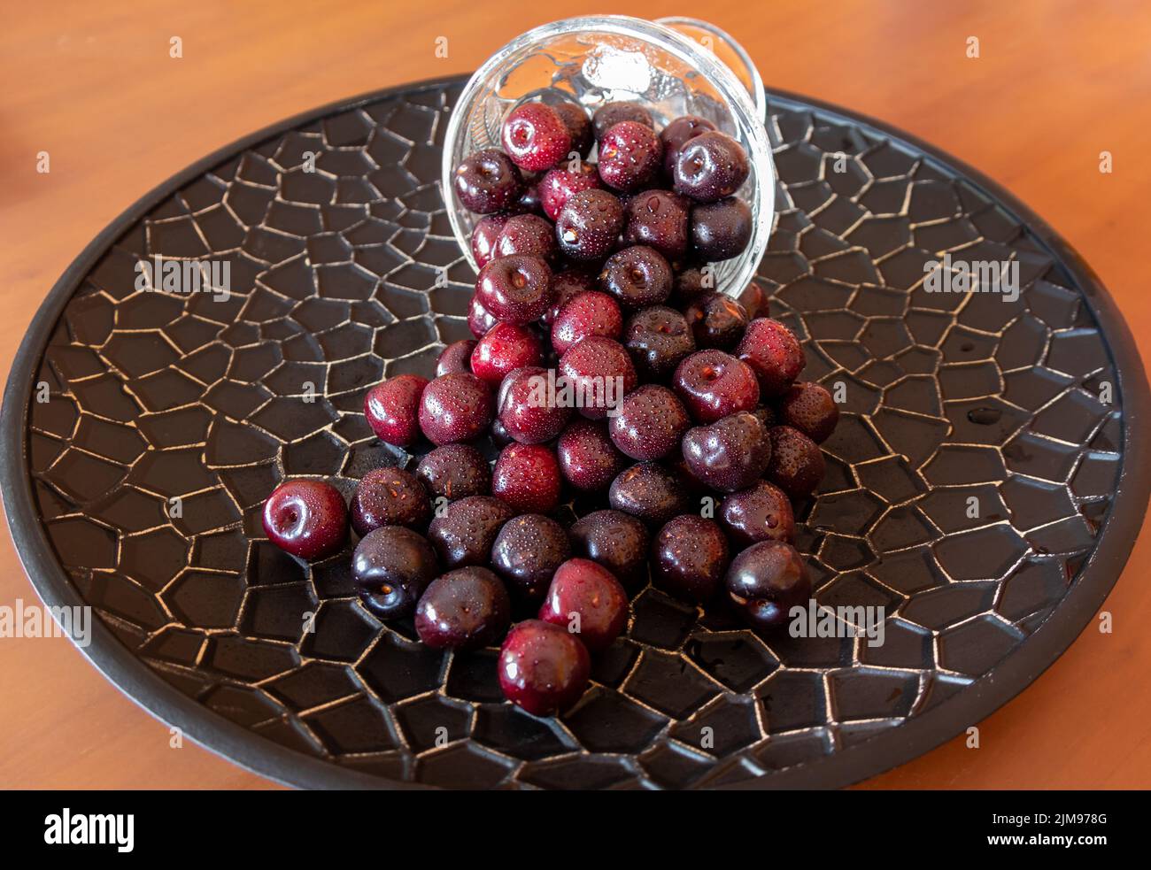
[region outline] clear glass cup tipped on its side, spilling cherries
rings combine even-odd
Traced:
[[[747,151],[752,171],[738,196],[752,208],[752,239],[739,257],[712,264],[718,290],[738,296],[747,287],[775,215],[763,83],[742,47],[718,28],[664,21],[596,15],[544,24],[508,43],[468,79],[448,121],[441,185],[452,232],[473,269],[472,228],[482,215],[460,205],[452,174],[472,152],[500,147],[506,114],[535,99],[573,100],[588,113],[604,102],[638,101],[658,127],[699,115]]]

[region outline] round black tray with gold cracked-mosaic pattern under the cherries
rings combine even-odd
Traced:
[[[460,85],[381,91],[205,158],[37,313],[5,394],[5,505],[45,602],[98,615],[84,652],[110,680],[302,786],[828,787],[961,732],[1082,631],[1151,474],[1121,316],[994,183],[792,96],[770,102],[780,213],[761,275],[806,376],[845,391],[799,543],[822,604],[886,608],[884,646],[760,636],[648,588],[577,709],[541,720],[501,701],[490,650],[427,650],[360,608],[346,557],[308,567],[262,540],[283,474],[349,491],[409,460],[372,437],[364,390],[428,373],[467,333],[473,275],[437,188]],[[1022,296],[927,292],[944,251],[1017,261]],[[135,290],[157,254],[228,261],[231,297]]]

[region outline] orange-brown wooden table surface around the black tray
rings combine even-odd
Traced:
[[[0,35],[0,359],[81,249],[155,184],[312,106],[474,69],[547,21],[699,3],[474,0],[162,0],[21,5]],[[982,169],[1044,215],[1098,272],[1151,357],[1151,6],[1131,2],[709,0],[768,89],[854,108]],[[169,56],[180,37],[183,56]],[[437,37],[448,56],[437,58]],[[968,58],[968,39],[980,56]],[[38,152],[51,173],[38,174]],[[1100,174],[1099,154],[1114,171]],[[0,604],[36,601],[0,535]],[[1022,695],[961,739],[866,787],[1151,785],[1151,532],[1105,609]],[[269,784],[168,730],[62,639],[0,639],[0,786]]]

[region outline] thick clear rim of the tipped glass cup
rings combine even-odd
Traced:
[[[729,104],[729,109],[734,116],[737,129],[739,129],[741,136],[747,139],[750,146],[752,153],[748,154],[748,158],[756,174],[754,197],[759,205],[756,222],[752,229],[752,241],[748,243],[749,250],[741,254],[746,260],[739,275],[740,281],[732,282],[726,288],[717,288],[722,292],[737,296],[742,291],[744,285],[754,278],[760,262],[763,260],[763,254],[767,251],[768,236],[771,232],[775,220],[776,171],[775,162],[771,159],[771,148],[764,119],[762,117],[762,109],[755,105],[753,96],[748,92],[744,83],[739,81],[735,74],[718,56],[696,45],[693,39],[666,24],[630,15],[584,15],[541,24],[506,43],[488,58],[472,74],[471,78],[467,79],[448,119],[440,178],[441,194],[443,196],[444,206],[448,212],[448,221],[451,224],[456,243],[464,253],[464,258],[473,270],[479,272],[475,257],[472,253],[470,234],[460,220],[459,209],[462,206],[452,184],[455,171],[453,143],[459,138],[460,128],[466,116],[466,113],[460,109],[465,106],[471,106],[480,87],[496,75],[508,59],[517,52],[529,47],[533,43],[541,39],[567,36],[581,31],[615,33],[654,43],[661,49],[668,51],[681,62],[695,68],[707,81],[718,87],[722,98]],[[750,69],[755,70],[755,66],[750,64]],[[739,287],[735,284],[739,284]]]

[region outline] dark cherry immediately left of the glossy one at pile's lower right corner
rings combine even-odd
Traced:
[[[651,542],[651,579],[677,598],[703,603],[719,590],[727,558],[719,525],[686,513],[664,524]]]

